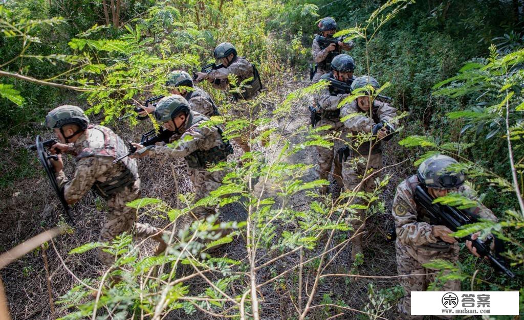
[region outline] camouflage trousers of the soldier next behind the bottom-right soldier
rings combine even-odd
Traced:
[[[368,165],[366,165],[368,164]],[[369,157],[367,155],[348,157],[344,163],[342,163],[342,180],[344,183],[344,189],[346,191],[354,190],[358,184],[362,182],[362,179],[366,174],[366,167],[368,175],[382,168],[382,153],[372,153]],[[370,176],[362,182],[362,186],[359,191],[373,192],[375,189],[375,178],[378,174]],[[360,197],[355,197],[353,204],[367,205],[367,203]],[[365,211],[362,209],[357,210],[357,215],[351,220],[351,225],[355,233],[361,233],[364,231],[366,222]],[[354,236],[353,247],[352,247],[352,258],[355,258],[356,253],[362,252],[362,235]]]

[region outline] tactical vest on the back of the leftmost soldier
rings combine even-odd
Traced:
[[[88,147],[83,148],[82,151],[77,156],[77,160],[86,157],[110,157],[113,159],[127,155],[128,150],[124,141],[118,137],[110,128],[99,126],[99,125],[89,125],[88,126]],[[99,133],[103,135],[103,146],[100,147],[100,142],[90,139],[95,139],[95,136],[98,136]],[[113,178],[100,182],[95,181],[92,189],[99,194],[101,197],[111,198],[118,192],[121,192],[127,186],[131,186],[138,179],[138,168],[135,159],[130,159],[129,157],[124,158],[121,162],[115,163],[113,165],[123,165],[123,171],[114,176]]]

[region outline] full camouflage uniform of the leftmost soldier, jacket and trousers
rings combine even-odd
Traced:
[[[100,241],[111,241],[124,231],[131,231],[140,238],[156,237],[161,230],[148,224],[135,223],[135,209],[126,203],[140,196],[140,178],[136,160],[124,159],[113,163],[117,157],[125,155],[127,148],[109,128],[90,125],[77,141],[69,144],[71,153],[77,158],[77,167],[73,179],[68,180],[63,171],[56,173],[57,182],[63,187],[65,200],[78,202],[91,188],[107,201],[108,212],[104,226],[100,231]],[[111,181],[111,182],[110,182]],[[110,186],[104,186],[109,182]],[[121,184],[120,187],[115,187]],[[114,190],[111,190],[115,187]],[[114,256],[100,251],[104,264],[111,266]]]

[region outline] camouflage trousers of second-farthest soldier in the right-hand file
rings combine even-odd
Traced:
[[[325,118],[322,118],[315,126],[321,127],[325,125],[330,125],[331,128],[321,131],[319,135],[340,135],[344,126],[340,121],[334,122]],[[337,150],[340,147],[343,147],[343,143],[340,140],[334,140],[333,142],[334,145],[332,148],[315,147],[317,162],[315,170],[319,173],[319,179],[329,180],[329,174],[331,168],[333,168],[333,178],[340,186],[342,186],[342,165]]]

